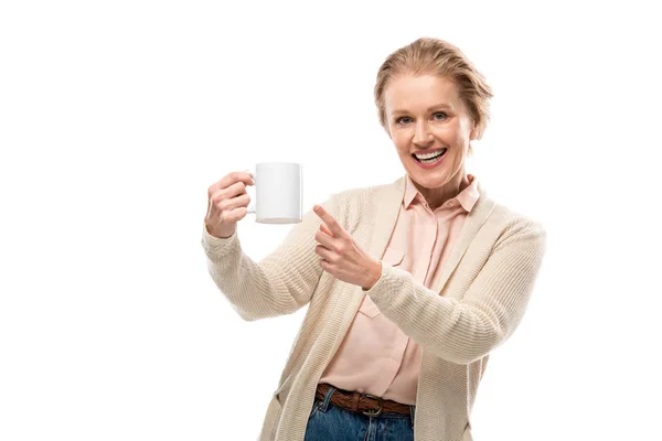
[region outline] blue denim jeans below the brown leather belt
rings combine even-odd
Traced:
[[[409,406],[410,415],[369,417],[332,405],[334,390],[329,388],[324,399],[316,397],[305,441],[414,441],[415,406]]]

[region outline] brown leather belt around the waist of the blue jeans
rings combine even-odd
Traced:
[[[319,384],[317,392],[314,394],[316,398],[324,399],[324,396],[330,387],[331,385],[325,383]],[[376,397],[371,394],[343,390],[337,388],[335,386],[333,386],[333,388],[335,390],[333,394],[331,394],[330,401],[343,409],[348,409],[353,412],[362,412],[369,417],[377,417],[382,415],[382,412],[410,415],[408,405],[403,405],[389,399],[383,399],[382,397]]]

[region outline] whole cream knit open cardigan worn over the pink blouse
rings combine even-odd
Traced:
[[[345,190],[322,205],[359,246],[381,259],[405,178]],[[308,304],[259,440],[303,440],[318,380],[365,294],[421,346],[415,440],[472,439],[471,409],[490,352],[521,322],[546,248],[540,223],[495,204],[480,183],[478,189],[480,197],[434,289],[388,265],[369,291],[333,278],[318,263],[314,234],[320,219],[312,211],[258,262],[242,251],[236,232],[222,239],[203,225],[209,272],[244,320],[290,314]]]

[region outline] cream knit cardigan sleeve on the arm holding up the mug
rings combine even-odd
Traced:
[[[338,215],[338,195],[321,205]],[[314,252],[319,226],[319,216],[312,209],[306,212],[284,241],[256,262],[242,250],[238,226],[232,236],[218,238],[210,235],[203,223],[201,244],[207,271],[242,319],[290,314],[310,301],[322,273]]]

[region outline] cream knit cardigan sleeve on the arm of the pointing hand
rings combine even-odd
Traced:
[[[461,300],[439,295],[399,268],[382,266],[365,293],[426,351],[472,363],[505,342],[520,324],[533,291],[546,233],[534,220],[506,230]]]

